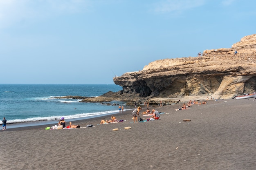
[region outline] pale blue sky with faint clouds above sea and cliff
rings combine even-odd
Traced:
[[[114,84],[256,33],[255,0],[0,0],[0,84]]]

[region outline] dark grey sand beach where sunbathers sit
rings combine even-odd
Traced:
[[[0,132],[1,169],[254,170],[255,104],[251,98],[209,100],[178,111],[182,104],[154,107],[168,114],[135,124],[129,110],[115,115],[124,122],[97,125],[111,115],[74,121],[94,125],[79,129],[8,129],[7,124]]]

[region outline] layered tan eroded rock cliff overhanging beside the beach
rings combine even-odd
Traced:
[[[213,95],[225,99],[256,91],[255,63],[256,34],[242,38],[231,49],[207,50],[203,57],[157,60],[142,71],[124,73],[113,80],[123,87],[119,97]]]

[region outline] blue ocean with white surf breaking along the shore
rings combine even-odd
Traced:
[[[124,110],[131,109],[120,101],[106,105],[54,98],[68,95],[97,97],[121,89],[115,84],[0,84],[0,124],[3,117],[7,119],[7,125],[19,127],[54,124],[61,117],[72,121],[110,115],[119,112],[118,105],[124,105]]]

